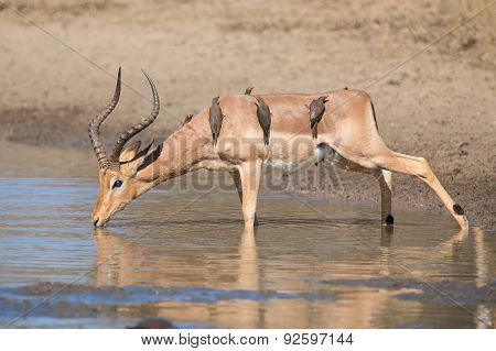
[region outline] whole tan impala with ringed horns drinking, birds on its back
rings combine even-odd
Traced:
[[[153,110],[119,136],[110,156],[99,139],[99,127],[117,106],[120,69],[112,101],[89,124],[100,166],[100,193],[93,213],[96,227],[105,226],[114,213],[160,183],[204,168],[231,173],[242,204],[245,227],[250,229],[256,223],[262,166],[300,167],[331,156],[337,166],[370,174],[379,180],[382,224],[393,222],[391,172],[399,172],[425,182],[460,227],[468,226],[462,207],[452,200],[424,158],[396,153],[386,146],[377,130],[370,98],[363,91],[226,95],[214,99],[211,108],[203,109],[153,151],[151,145],[140,150],[140,142],[123,149],[159,114],[159,95],[148,75],[147,78],[153,92]]]

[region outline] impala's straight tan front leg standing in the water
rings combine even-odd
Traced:
[[[258,188],[260,186],[261,161],[245,162],[239,166],[242,188],[242,217],[245,228],[252,229],[256,219]]]

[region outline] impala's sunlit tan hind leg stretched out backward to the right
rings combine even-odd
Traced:
[[[453,201],[432,172],[425,158],[388,151],[384,156],[374,157],[374,162],[381,168],[409,174],[422,179],[432,190],[434,190],[459,226],[463,229],[468,228],[468,220],[464,216],[462,207]]]

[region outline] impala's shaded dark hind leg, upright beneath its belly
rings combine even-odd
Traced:
[[[380,187],[380,222],[382,226],[392,226],[395,218],[391,212],[392,205],[392,176],[391,172],[387,169],[371,169],[360,166],[353,161],[346,160],[339,156],[335,163],[339,168],[358,172],[363,174],[369,174],[379,182]]]

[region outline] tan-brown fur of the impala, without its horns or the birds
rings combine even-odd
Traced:
[[[319,123],[315,140],[310,133],[308,106],[312,100],[328,96],[326,109]],[[255,95],[257,97],[257,95]],[[217,144],[212,145],[208,108],[175,131],[163,143],[155,161],[133,174],[132,165],[121,169],[100,172],[100,195],[94,212],[97,226],[105,224],[130,200],[151,187],[170,178],[200,168],[237,171],[240,176],[240,194],[245,226],[252,228],[262,163],[279,160],[303,162],[313,156],[316,145],[324,143],[336,151],[342,161],[338,166],[371,174],[378,178],[381,189],[381,221],[388,224],[391,216],[391,172],[406,173],[425,182],[440,197],[462,228],[468,222],[453,210],[455,204],[425,160],[390,151],[380,138],[367,94],[359,90],[336,90],[319,95],[263,95],[270,107],[271,144],[265,146],[263,131],[257,120],[254,96],[227,95],[219,99],[224,120]],[[139,163],[139,160],[134,163]],[[127,169],[127,171],[126,171]],[[125,179],[123,188],[110,194],[110,183],[116,176]]]

